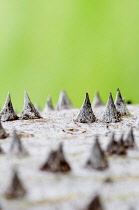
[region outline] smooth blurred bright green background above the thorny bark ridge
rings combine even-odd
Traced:
[[[1,0],[0,106],[26,90],[43,107],[61,89],[80,107],[88,91],[106,102],[121,89],[139,102],[138,0]]]

